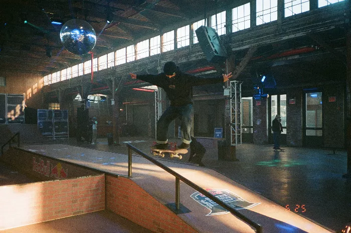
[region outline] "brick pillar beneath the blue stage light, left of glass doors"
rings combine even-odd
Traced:
[[[260,102],[259,102],[260,101]],[[259,105],[258,105],[259,104]],[[267,98],[253,100],[252,119],[254,144],[268,143],[268,105]]]

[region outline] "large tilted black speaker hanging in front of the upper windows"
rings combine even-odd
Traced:
[[[201,26],[195,32],[209,62],[223,63],[227,59],[227,51],[215,29]]]

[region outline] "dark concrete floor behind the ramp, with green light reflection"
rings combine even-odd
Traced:
[[[149,153],[153,139],[121,138],[121,146],[108,146],[107,139],[98,141],[97,145],[77,144],[75,139],[61,143],[127,154],[126,142]],[[283,207],[289,205],[295,210],[299,205],[296,211],[300,215],[330,229],[340,230],[351,220],[351,180],[342,178],[346,172],[345,151],[333,154],[322,149],[286,148],[285,152],[273,152],[271,145],[252,144],[238,146],[236,151],[239,161],[218,161],[217,148],[207,148],[203,163]],[[172,161],[187,163],[188,158]]]

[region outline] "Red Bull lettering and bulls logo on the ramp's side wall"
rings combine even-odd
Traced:
[[[33,171],[56,179],[65,179],[68,176],[68,169],[63,169],[61,163],[54,166],[50,161],[46,161],[45,163],[42,159],[39,159],[39,162],[37,162],[35,157],[33,157]]]

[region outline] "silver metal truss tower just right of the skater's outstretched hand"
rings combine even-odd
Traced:
[[[230,81],[230,123],[231,123],[231,134],[230,140],[231,145],[236,146],[242,143],[241,135],[241,82]]]

